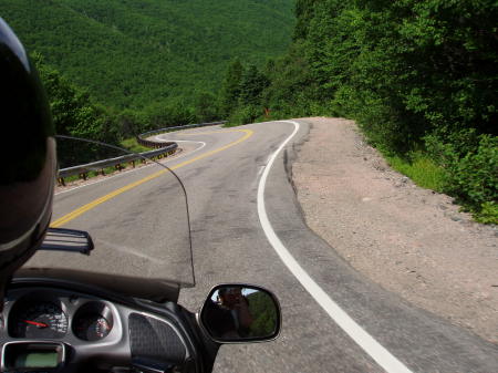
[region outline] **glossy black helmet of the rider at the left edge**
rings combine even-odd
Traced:
[[[41,245],[56,174],[49,104],[37,70],[0,18],[0,289]],[[3,291],[0,292],[0,310]]]

